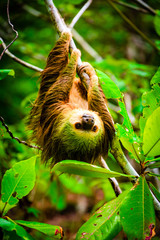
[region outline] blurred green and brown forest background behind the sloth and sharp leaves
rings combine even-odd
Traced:
[[[81,0],[54,2],[68,25],[85,3]],[[160,1],[146,2],[156,11],[160,9]],[[123,3],[142,8],[136,1]],[[79,41],[75,43],[82,52],[82,60],[89,61],[95,68],[107,73],[124,93],[132,124],[138,132],[138,119],[142,113],[141,95],[150,88],[149,81],[160,63],[160,30],[157,26],[160,20],[150,12],[143,13],[117,3],[114,5],[154,42],[155,47],[137,33],[107,0],[93,1],[75,25],[75,30],[102,60],[96,61]],[[44,1],[13,0],[10,1],[9,11],[11,22],[19,34],[9,50],[20,59],[43,69],[47,55],[58,38]],[[5,0],[0,2],[0,37],[6,45],[15,37],[8,24]],[[2,52],[2,46],[0,50]],[[14,77],[7,75],[0,81],[0,115],[15,136],[27,140],[29,133],[25,121],[37,95],[39,73],[16,63],[6,54],[0,61],[0,69],[15,71]],[[117,102],[110,100],[109,107],[115,122],[121,122]],[[35,154],[35,150],[12,140],[0,124],[1,178],[15,162]],[[117,170],[111,157],[109,166]],[[49,169],[40,161],[37,161],[37,176],[34,191],[20,201],[16,210],[12,209],[10,216],[62,225],[68,234],[66,239],[74,239],[75,232],[88,218],[88,214],[114,197],[108,182],[65,175],[57,178],[51,176]],[[122,189],[129,184],[122,179]],[[36,239],[44,238],[36,235]]]

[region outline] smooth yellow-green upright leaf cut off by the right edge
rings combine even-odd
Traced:
[[[160,107],[148,118],[143,134],[143,152],[146,156],[160,155]]]

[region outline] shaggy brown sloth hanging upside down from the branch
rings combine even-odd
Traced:
[[[115,134],[95,70],[89,63],[77,67],[77,49],[69,59],[71,37],[70,32],[63,32],[49,53],[28,120],[32,140],[42,148],[42,160],[51,164],[106,157]]]

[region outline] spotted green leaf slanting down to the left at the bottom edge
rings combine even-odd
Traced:
[[[123,192],[118,198],[108,202],[98,209],[94,215],[79,229],[76,240],[111,240],[122,229],[119,216],[119,208],[125,199],[127,192]]]

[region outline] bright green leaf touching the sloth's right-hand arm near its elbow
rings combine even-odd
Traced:
[[[117,85],[105,73],[96,70],[101,88],[106,98],[121,98],[122,94]]]

